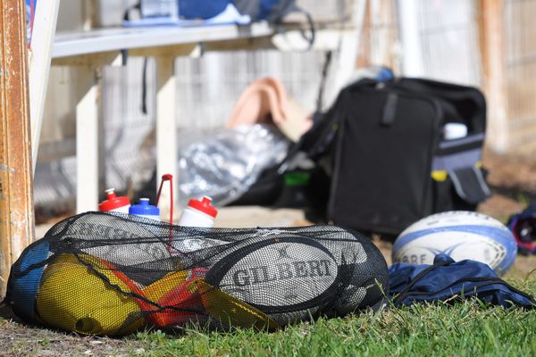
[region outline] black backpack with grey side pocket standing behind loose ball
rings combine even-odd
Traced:
[[[467,135],[444,140],[449,122],[465,124]],[[328,219],[398,234],[434,212],[473,211],[490,195],[480,162],[485,127],[476,88],[362,79],[339,93],[297,150],[331,177]]]

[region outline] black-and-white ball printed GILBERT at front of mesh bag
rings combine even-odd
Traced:
[[[320,243],[279,237],[226,255],[205,281],[286,324],[306,319],[336,294],[338,270],[335,257]]]

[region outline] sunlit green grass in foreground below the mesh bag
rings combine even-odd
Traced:
[[[515,286],[536,295],[536,280]],[[132,337],[150,356],[536,356],[536,311],[505,310],[470,300],[367,311],[302,323],[276,333],[188,329],[184,335]]]

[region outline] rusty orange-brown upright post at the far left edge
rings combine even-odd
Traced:
[[[34,240],[26,5],[0,2],[0,295]]]

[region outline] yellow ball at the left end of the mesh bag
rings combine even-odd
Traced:
[[[127,335],[143,324],[136,299],[118,290],[130,293],[129,287],[95,256],[59,255],[43,272],[41,281],[38,314],[55,328],[86,335]]]

